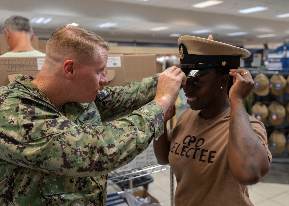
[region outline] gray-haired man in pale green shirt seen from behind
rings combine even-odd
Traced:
[[[10,52],[2,54],[0,57],[45,56],[45,53],[36,50],[31,44],[34,33],[28,18],[23,16],[11,16],[5,20],[2,28]]]

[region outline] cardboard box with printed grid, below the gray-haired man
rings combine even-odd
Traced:
[[[9,84],[16,74],[36,76],[43,62],[43,57],[0,57],[0,86]]]

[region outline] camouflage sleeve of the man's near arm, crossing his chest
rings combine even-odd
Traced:
[[[131,161],[163,133],[164,114],[156,102],[97,127],[75,124],[40,103],[2,93],[2,160],[47,173],[99,176]]]

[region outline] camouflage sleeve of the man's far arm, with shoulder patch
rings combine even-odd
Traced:
[[[105,87],[105,91],[100,92],[95,100],[101,120],[118,119],[152,101],[157,84],[158,74],[125,87]]]

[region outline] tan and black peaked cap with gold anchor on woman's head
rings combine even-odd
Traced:
[[[238,68],[240,59],[251,54],[248,50],[195,36],[178,40],[180,68],[187,78],[201,76],[214,68]]]

